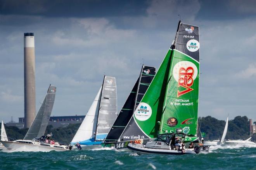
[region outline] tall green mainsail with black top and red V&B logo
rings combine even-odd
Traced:
[[[197,134],[199,95],[199,27],[180,23],[171,57],[160,134],[182,128],[188,136]]]

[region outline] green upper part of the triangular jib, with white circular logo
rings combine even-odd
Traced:
[[[157,122],[161,121],[172,51],[172,48],[168,50],[147,92],[133,114],[138,127],[149,138],[156,138],[159,133],[160,124]]]

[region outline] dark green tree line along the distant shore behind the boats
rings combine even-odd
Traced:
[[[199,117],[199,128],[205,133],[204,140],[220,139],[225,127],[225,121],[220,121],[214,117]],[[255,122],[254,122],[255,123]],[[68,144],[73,139],[80,124],[69,124],[63,128],[52,128],[48,125],[46,134],[52,133],[55,142]],[[18,129],[14,126],[5,126],[7,136],[13,139],[23,139],[28,129]],[[228,132],[226,139],[247,139],[249,138],[249,120],[246,116],[237,116],[233,120],[228,121]],[[256,134],[252,136],[252,141],[256,141]]]

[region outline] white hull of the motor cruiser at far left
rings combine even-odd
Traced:
[[[28,152],[49,152],[49,151],[67,151],[68,149],[64,148],[54,148],[54,145],[51,146],[41,146],[35,144],[27,144],[27,143],[17,143],[15,141],[1,141],[1,143],[11,151],[28,151]]]

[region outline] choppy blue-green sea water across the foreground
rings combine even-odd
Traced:
[[[111,148],[50,152],[0,151],[0,169],[256,170],[256,147],[212,146],[197,155],[137,155]]]

